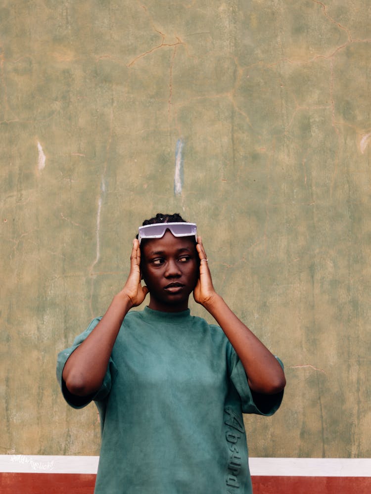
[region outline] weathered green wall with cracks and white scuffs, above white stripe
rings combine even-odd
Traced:
[[[98,453],[56,354],[176,211],[285,362],[251,454],[371,455],[370,26],[369,0],[1,2],[0,452]]]

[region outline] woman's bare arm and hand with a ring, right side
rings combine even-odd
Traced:
[[[275,394],[286,384],[284,372],[276,357],[231,311],[214,289],[201,237],[197,252],[200,257],[200,277],[193,291],[194,300],[218,322],[231,342],[245,369],[250,389],[256,393]]]

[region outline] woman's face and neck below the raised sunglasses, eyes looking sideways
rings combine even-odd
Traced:
[[[194,237],[175,237],[167,230],[162,238],[143,240],[140,252],[150,296],[148,307],[162,312],[185,311],[199,271]]]

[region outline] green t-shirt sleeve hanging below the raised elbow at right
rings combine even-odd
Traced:
[[[283,369],[283,363],[276,357]],[[231,351],[231,381],[241,399],[243,413],[256,413],[257,415],[273,415],[279,408],[283,390],[275,395],[260,395],[264,400],[258,399],[258,395],[254,393],[248,384],[245,369],[241,360],[232,348]]]

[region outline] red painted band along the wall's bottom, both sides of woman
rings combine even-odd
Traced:
[[[95,474],[0,472],[1,494],[93,494]],[[253,476],[254,494],[370,494],[371,477]]]

